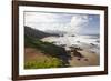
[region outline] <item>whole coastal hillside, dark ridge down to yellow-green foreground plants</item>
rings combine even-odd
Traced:
[[[30,54],[30,59],[33,54],[36,55],[31,61],[26,60],[26,69],[61,68],[69,64],[68,59],[70,59],[70,55],[63,48],[40,40],[41,38],[54,34],[44,33],[29,27],[24,27],[24,49],[27,50],[24,51],[24,60],[28,59],[28,54]],[[34,49],[34,51],[30,51],[30,49]],[[30,52],[28,53],[28,51]],[[38,58],[40,53],[42,54],[41,63],[39,62],[40,58]]]

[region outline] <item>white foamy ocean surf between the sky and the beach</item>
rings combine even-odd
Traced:
[[[100,37],[99,34],[85,36],[63,36],[63,37],[47,37],[42,41],[53,42],[56,45],[79,47],[91,52],[100,53]]]

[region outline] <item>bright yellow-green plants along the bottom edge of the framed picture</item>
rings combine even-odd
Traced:
[[[44,69],[44,68],[61,68],[63,62],[58,58],[39,58],[33,61],[26,62],[24,69]]]

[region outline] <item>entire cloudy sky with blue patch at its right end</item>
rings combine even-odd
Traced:
[[[24,26],[29,26],[41,31],[54,30],[75,34],[99,34],[100,16],[26,11]]]

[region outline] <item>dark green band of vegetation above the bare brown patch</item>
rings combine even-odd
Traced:
[[[50,54],[52,57],[67,55],[67,52],[63,48],[57,47],[50,42],[43,42],[37,38],[33,39],[26,36],[24,43],[24,47],[38,48],[42,53]]]

